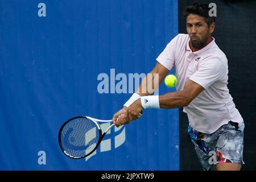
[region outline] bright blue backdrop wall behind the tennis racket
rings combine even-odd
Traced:
[[[145,110],[86,159],[57,139],[69,118],[121,109],[132,93],[117,75],[151,71],[178,32],[176,0],[2,0],[0,14],[1,170],[179,170],[178,109]]]

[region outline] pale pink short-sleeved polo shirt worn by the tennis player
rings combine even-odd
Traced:
[[[183,111],[190,125],[201,133],[214,133],[229,121],[242,124],[228,85],[228,60],[214,41],[192,52],[188,34],[178,34],[156,59],[167,69],[175,66],[177,91],[183,90],[188,79],[205,89]]]

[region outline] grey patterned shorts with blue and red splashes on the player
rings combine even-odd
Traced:
[[[229,121],[212,134],[204,134],[188,126],[196,154],[204,170],[216,170],[218,163],[243,162],[243,129],[245,124]]]

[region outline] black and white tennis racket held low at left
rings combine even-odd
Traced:
[[[72,159],[81,159],[92,154],[102,138],[114,126],[113,123],[102,134],[98,122],[112,122],[112,120],[80,116],[65,122],[59,131],[59,144],[64,154]]]

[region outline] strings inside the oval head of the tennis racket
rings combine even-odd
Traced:
[[[69,121],[61,133],[61,143],[71,156],[82,157],[89,154],[100,138],[96,124],[88,118]]]

